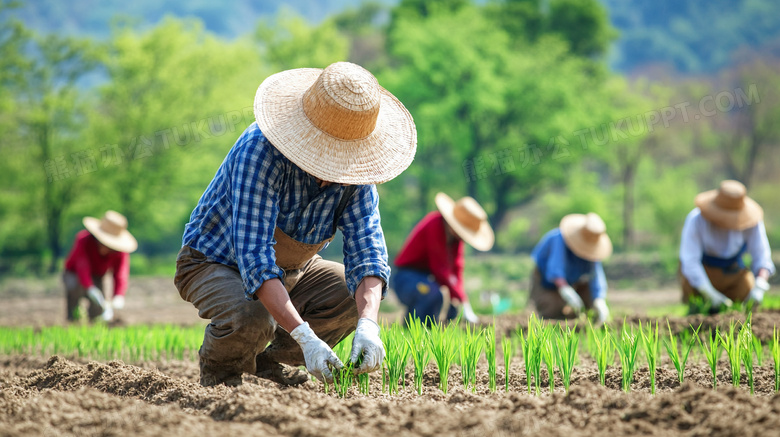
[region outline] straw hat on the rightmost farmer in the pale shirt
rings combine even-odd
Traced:
[[[764,210],[747,197],[747,189],[739,181],[725,180],[717,190],[699,193],[695,203],[702,217],[721,228],[741,231],[764,218]]]

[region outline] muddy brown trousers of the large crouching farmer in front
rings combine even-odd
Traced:
[[[297,282],[285,284],[293,306],[319,338],[335,346],[355,330],[358,319],[344,266],[315,255],[295,273]],[[208,262],[204,254],[184,246],[176,259],[174,283],[182,299],[192,303],[201,318],[211,320],[199,351],[202,365],[238,375],[255,373],[261,353],[274,362],[305,364],[298,343],[263,304],[245,299],[238,269]]]

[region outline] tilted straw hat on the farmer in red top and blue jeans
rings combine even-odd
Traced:
[[[436,207],[458,236],[480,251],[493,247],[496,238],[487,221],[487,213],[473,197],[463,197],[457,202],[444,193],[436,194]]]

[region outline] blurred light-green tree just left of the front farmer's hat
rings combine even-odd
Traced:
[[[103,61],[109,80],[88,131],[101,158],[99,201],[83,212],[124,213],[142,253],[176,250],[197,199],[254,121],[252,98],[267,70],[248,39],[225,42],[176,19],[115,31]]]

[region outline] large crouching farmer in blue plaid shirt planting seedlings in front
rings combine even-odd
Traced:
[[[342,363],[331,348],[352,331],[356,371],[376,370],[390,267],[375,184],[412,162],[412,117],[347,62],[270,76],[254,113],[192,212],[176,262],[181,297],[211,319],[200,382],[239,385],[243,372],[308,380],[282,363],[332,380]],[[317,255],[337,228],[343,265]]]

